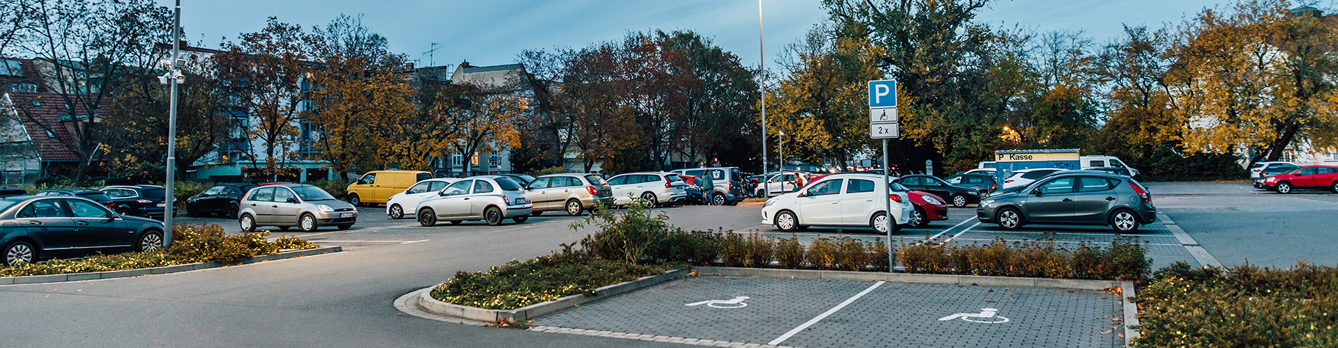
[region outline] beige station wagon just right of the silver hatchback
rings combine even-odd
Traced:
[[[526,190],[534,202],[534,215],[559,210],[581,215],[595,206],[613,205],[613,187],[595,174],[549,174],[534,178]]]

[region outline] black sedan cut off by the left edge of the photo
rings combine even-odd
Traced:
[[[151,252],[163,245],[161,221],[126,217],[76,195],[0,198],[4,264],[92,253]]]

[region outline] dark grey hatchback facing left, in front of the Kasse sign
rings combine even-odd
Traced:
[[[1028,224],[1108,225],[1129,233],[1156,221],[1152,194],[1125,175],[1100,171],[1065,171],[1041,178],[1017,193],[981,201],[981,222],[1016,230]]]

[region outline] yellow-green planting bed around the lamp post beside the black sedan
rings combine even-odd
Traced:
[[[269,232],[226,236],[218,225],[198,226],[178,224],[173,228],[173,245],[167,250],[150,253],[92,254],[83,258],[50,260],[0,268],[0,277],[45,276],[66,273],[111,272],[140,268],[173,266],[194,262],[237,265],[246,258],[274,254],[285,249],[320,248],[296,237],[268,241]]]

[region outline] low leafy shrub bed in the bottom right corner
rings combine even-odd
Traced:
[[[1137,347],[1338,347],[1338,269],[1176,262],[1133,300]]]

